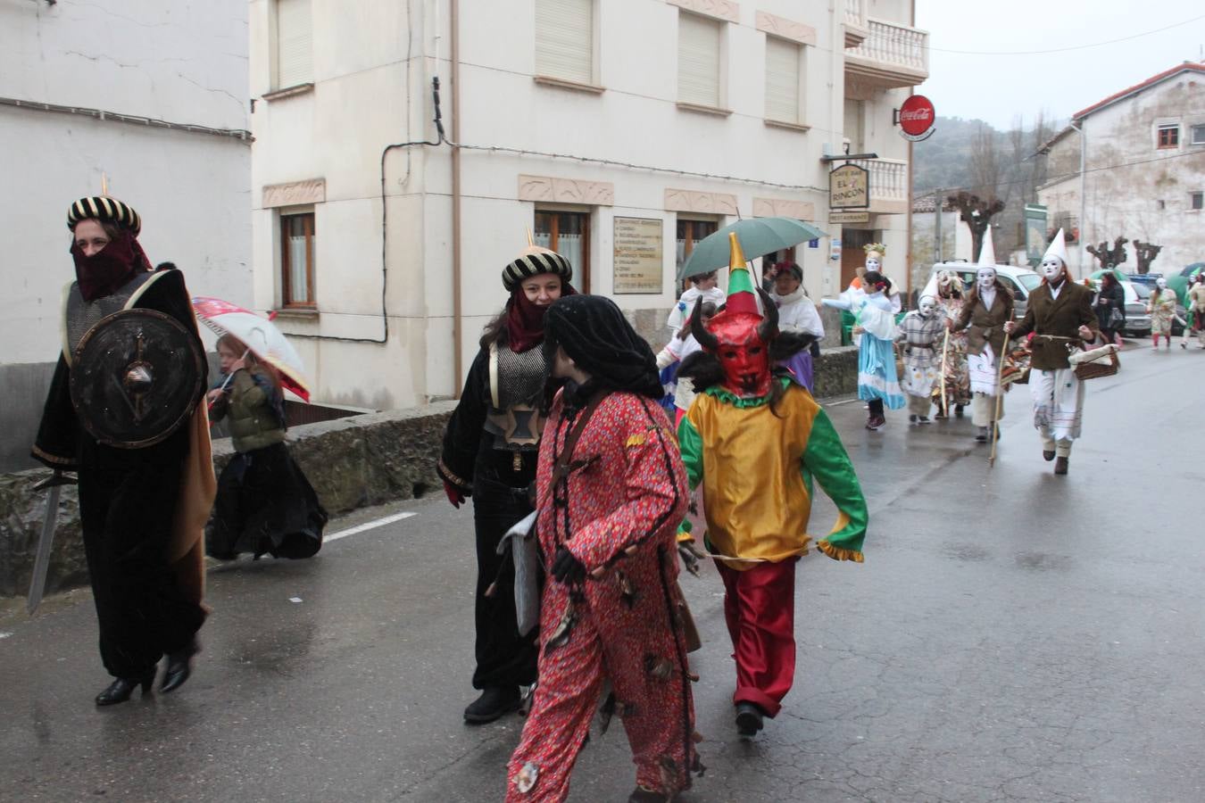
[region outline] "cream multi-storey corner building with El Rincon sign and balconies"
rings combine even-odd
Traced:
[[[677,266],[737,218],[829,235],[794,249],[813,297],[865,242],[886,242],[906,282],[893,112],[928,75],[911,0],[249,10],[255,306],[280,311],[321,402],[457,395],[528,230],[652,339]],[[866,220],[844,226],[824,160],[842,153],[878,157],[862,163]]]

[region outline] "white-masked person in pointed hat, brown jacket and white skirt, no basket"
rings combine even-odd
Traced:
[[[1012,293],[995,273],[995,249],[992,230],[983,235],[975,287],[966,294],[966,302],[957,320],[950,321],[951,331],[966,332],[966,368],[971,382],[971,420],[978,431],[975,439],[986,442],[1000,437],[998,421],[1004,418],[1004,398],[999,383],[1001,354],[1006,354],[1009,336],[1004,325],[1012,320]],[[992,432],[995,427],[995,432]]]

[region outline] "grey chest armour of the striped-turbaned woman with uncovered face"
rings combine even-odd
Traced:
[[[486,432],[494,436],[495,449],[528,451],[539,447],[543,431],[540,401],[547,378],[542,349],[516,353],[505,346],[490,348]]]

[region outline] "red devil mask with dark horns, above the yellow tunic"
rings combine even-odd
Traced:
[[[706,326],[703,305],[694,306],[690,333],[724,370],[724,388],[737,396],[770,392],[770,341],[778,333],[778,307],[758,288],[765,317],[743,309],[724,309]]]

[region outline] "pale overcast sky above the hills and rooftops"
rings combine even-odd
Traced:
[[[916,91],[937,114],[998,129],[1011,128],[1017,114],[1028,128],[1042,110],[1066,119],[1181,61],[1200,60],[1205,46],[1201,0],[916,0],[916,24],[929,31],[931,48],[929,79]]]

